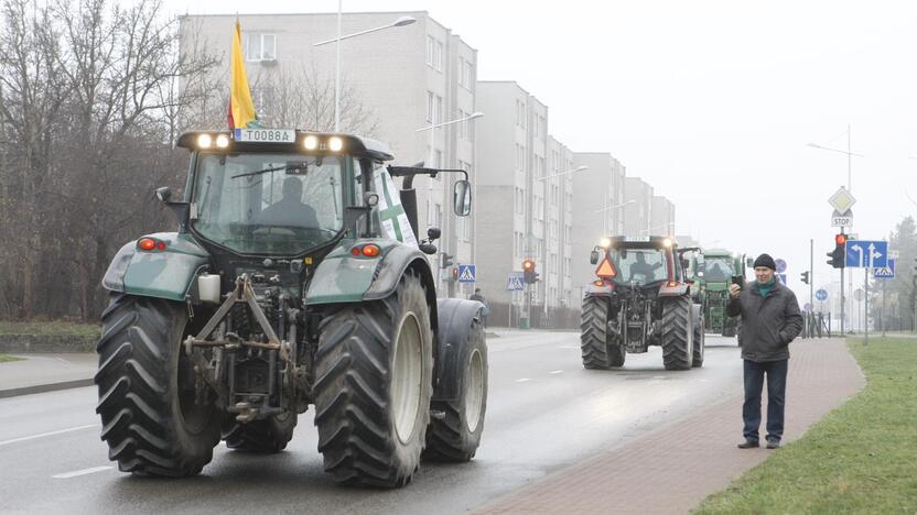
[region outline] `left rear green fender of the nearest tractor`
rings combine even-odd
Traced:
[[[103,278],[103,287],[142,297],[184,300],[197,273],[209,263],[209,254],[190,235],[157,232],[149,238],[165,243],[165,250],[143,252],[137,241],[115,254]]]

